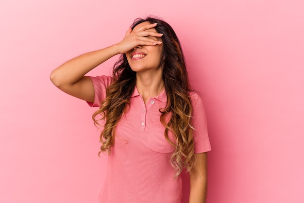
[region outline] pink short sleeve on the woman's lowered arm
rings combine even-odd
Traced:
[[[194,127],[194,153],[203,153],[211,150],[206,113],[201,97],[194,92],[190,93],[192,99],[192,125]]]

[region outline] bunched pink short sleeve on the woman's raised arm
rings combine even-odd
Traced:
[[[100,107],[101,102],[105,99],[105,90],[107,88],[107,86],[109,86],[112,81],[113,78],[111,76],[96,76],[96,77],[92,77],[92,76],[88,76],[94,85],[94,103],[87,101],[87,103],[89,104],[89,106],[91,107]]]

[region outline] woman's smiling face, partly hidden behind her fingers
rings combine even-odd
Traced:
[[[142,22],[135,26],[133,31],[138,30],[141,26],[150,24],[149,22]],[[154,28],[148,31],[156,32]],[[162,41],[160,37],[147,36],[157,41]],[[133,71],[139,73],[143,71],[159,70],[162,62],[163,44],[155,46],[139,45],[132,50],[126,52],[128,63]]]

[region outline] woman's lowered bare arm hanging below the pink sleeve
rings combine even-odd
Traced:
[[[207,193],[207,152],[197,153],[190,172],[189,203],[205,203]]]

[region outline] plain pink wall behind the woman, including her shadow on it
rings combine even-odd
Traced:
[[[174,28],[202,92],[207,202],[303,203],[303,11],[303,0],[1,0],[0,203],[98,202],[96,109],[49,74],[148,14]]]

